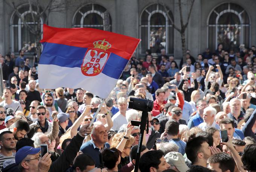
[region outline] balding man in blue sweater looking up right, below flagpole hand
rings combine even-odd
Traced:
[[[107,129],[100,122],[94,123],[93,131],[91,132],[91,140],[85,142],[80,151],[84,154],[89,154],[95,161],[95,166],[100,165],[99,151],[110,148],[108,142]]]

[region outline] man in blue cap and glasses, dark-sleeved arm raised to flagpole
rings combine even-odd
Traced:
[[[35,149],[30,146],[24,146],[18,150],[15,157],[15,163],[18,164],[21,172],[32,171],[32,169],[33,171],[45,172],[66,171],[66,169],[70,167],[70,164],[73,163],[85,136],[91,133],[92,128],[93,127],[89,127],[89,124],[80,128],[79,132],[69,143],[69,146],[67,146],[61,156],[53,163],[51,163],[50,155],[48,153],[40,158],[40,148]],[[45,142],[46,141],[47,140],[45,140]],[[44,170],[40,170],[40,168],[44,168]]]

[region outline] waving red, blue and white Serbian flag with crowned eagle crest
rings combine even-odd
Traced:
[[[83,88],[107,98],[140,39],[91,28],[44,24],[40,88]]]

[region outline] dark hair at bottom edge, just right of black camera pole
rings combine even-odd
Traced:
[[[139,169],[143,172],[149,172],[150,167],[158,169],[163,157],[163,152],[160,150],[148,151],[140,157]]]

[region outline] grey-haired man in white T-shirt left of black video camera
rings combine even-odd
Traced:
[[[113,127],[112,130],[114,131],[118,131],[119,128],[123,125],[123,124],[127,124],[127,120],[126,120],[126,110],[127,110],[127,101],[124,97],[120,97],[117,100],[117,105],[118,105],[118,109],[119,112],[117,112],[113,117],[112,117],[112,121],[113,121]]]

